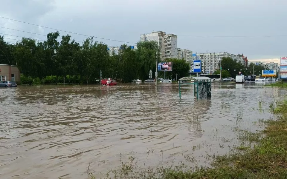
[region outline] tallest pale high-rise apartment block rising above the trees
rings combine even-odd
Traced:
[[[162,31],[141,34],[140,41],[156,41],[160,47],[158,53],[161,61],[177,57],[177,36],[174,34],[166,34]]]

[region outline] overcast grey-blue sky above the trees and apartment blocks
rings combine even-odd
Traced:
[[[193,53],[243,53],[250,61],[266,62],[287,56],[285,0],[0,0],[0,4],[1,17],[72,32],[59,31],[81,42],[95,36],[108,46],[132,45],[141,34],[161,30],[177,35],[178,48]],[[12,35],[4,35],[9,43],[21,37],[45,40],[47,33],[56,31],[1,17],[0,35]]]

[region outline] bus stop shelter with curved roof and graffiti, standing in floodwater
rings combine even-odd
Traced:
[[[197,99],[204,99],[211,97],[211,78],[205,76],[186,76],[179,79],[179,99],[181,99],[181,81],[190,81],[194,84],[194,96]],[[190,83],[189,83],[190,84]]]

